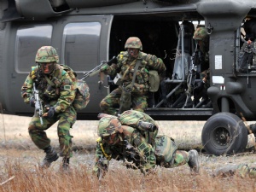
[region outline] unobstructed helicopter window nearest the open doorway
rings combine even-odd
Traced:
[[[101,28],[99,22],[67,24],[63,33],[61,61],[81,73],[95,67]]]

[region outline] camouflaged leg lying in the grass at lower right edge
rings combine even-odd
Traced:
[[[238,173],[241,177],[256,177],[256,167],[249,167],[246,164],[238,164],[218,168],[213,177],[230,177]]]

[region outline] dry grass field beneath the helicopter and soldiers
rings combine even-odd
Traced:
[[[200,149],[201,121],[159,121],[160,134],[173,137],[179,149],[197,148],[200,152],[200,173],[191,175],[189,166],[166,169],[157,167],[144,177],[139,171],[126,169],[111,160],[109,171],[101,182],[92,174],[96,144],[96,121],[77,121],[73,125],[73,158],[70,172],[61,170],[61,159],[47,170],[38,163],[44,153],[36,148],[27,133],[29,117],[0,114],[0,192],[1,191],[256,191],[256,178],[212,177],[218,167],[246,163],[256,166],[253,150],[230,156],[209,156]],[[58,148],[56,125],[47,134]]]

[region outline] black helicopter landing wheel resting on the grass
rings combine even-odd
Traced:
[[[201,133],[207,154],[236,154],[247,146],[247,127],[233,113],[217,113],[207,120]]]

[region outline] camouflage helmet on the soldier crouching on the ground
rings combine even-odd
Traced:
[[[117,117],[102,117],[102,119],[99,120],[98,136],[107,137],[116,132],[119,132],[120,129],[121,123],[119,122],[119,119],[117,119]]]

